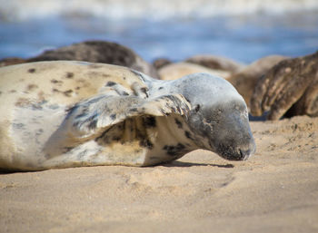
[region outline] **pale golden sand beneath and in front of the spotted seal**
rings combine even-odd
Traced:
[[[252,129],[247,161],[0,174],[0,232],[318,232],[318,118]]]

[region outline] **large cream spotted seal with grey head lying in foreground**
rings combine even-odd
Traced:
[[[0,68],[0,168],[149,166],[212,150],[255,151],[247,107],[222,78],[155,80],[126,67],[71,61]]]

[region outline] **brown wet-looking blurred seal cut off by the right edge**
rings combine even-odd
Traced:
[[[253,90],[251,113],[264,112],[272,121],[318,116],[318,52],[284,59],[263,74]]]

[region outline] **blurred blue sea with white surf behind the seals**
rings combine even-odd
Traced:
[[[106,40],[148,62],[209,53],[251,63],[317,51],[317,13],[316,0],[0,0],[0,58]]]

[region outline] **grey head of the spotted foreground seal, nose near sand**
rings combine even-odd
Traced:
[[[205,73],[189,75],[180,90],[191,103],[188,125],[198,146],[226,160],[247,160],[256,150],[243,97],[231,83]]]

